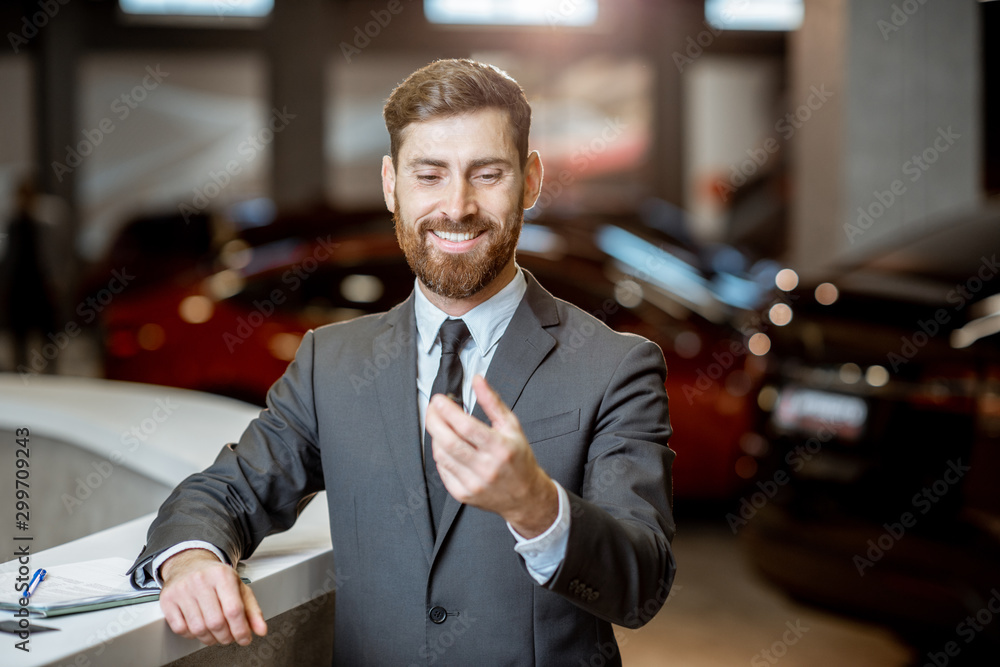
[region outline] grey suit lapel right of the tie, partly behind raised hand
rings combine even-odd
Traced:
[[[524,385],[555,347],[555,339],[545,331],[544,327],[559,323],[552,295],[542,289],[534,276],[527,271],[524,271],[524,277],[528,282],[524,298],[500,338],[497,351],[490,361],[490,368],[486,372],[487,382],[509,408],[517,404]],[[486,413],[478,403],[472,414],[480,421],[489,423]],[[438,550],[461,508],[462,504],[451,495],[445,500],[432,558],[437,557]]]

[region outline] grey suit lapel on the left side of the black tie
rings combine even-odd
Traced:
[[[413,295],[386,316],[386,327],[372,341],[372,358],[389,354],[392,360],[375,378],[382,423],[396,472],[407,499],[416,494],[425,498],[423,438],[417,416],[417,340]],[[402,350],[393,356],[392,350]],[[456,503],[457,504],[457,503]],[[412,507],[411,507],[412,509]],[[427,503],[410,512],[428,565],[434,547],[434,529]]]

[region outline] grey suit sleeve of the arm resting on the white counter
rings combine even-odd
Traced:
[[[226,445],[208,469],[181,482],[160,507],[130,574],[187,540],[213,544],[235,564],[250,556],[267,535],[295,523],[323,488],[313,359],[310,331],[295,360],[268,392],[267,408],[239,442]]]

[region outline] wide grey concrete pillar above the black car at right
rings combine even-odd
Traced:
[[[978,21],[972,0],[806,3],[789,260],[807,278],[978,205]]]

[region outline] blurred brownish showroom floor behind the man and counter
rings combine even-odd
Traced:
[[[9,338],[0,334],[0,370],[11,370],[11,361]],[[96,345],[81,336],[51,366],[96,376]],[[617,629],[627,667],[913,664],[916,656],[890,632],[802,606],[769,587],[721,520],[685,520],[679,511],[678,523],[678,574],[664,609],[639,630]],[[591,664],[603,664],[596,649]]]

